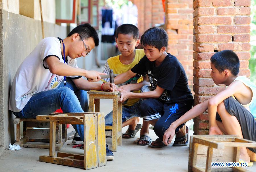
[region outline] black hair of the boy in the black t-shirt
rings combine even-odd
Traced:
[[[144,47],[146,45],[155,47],[159,51],[162,47],[168,46],[168,34],[164,28],[153,27],[146,30],[141,36],[141,45]]]

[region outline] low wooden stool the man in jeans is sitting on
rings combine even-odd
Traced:
[[[23,121],[23,137],[20,139],[20,122]],[[45,148],[49,149],[49,131],[50,123],[48,121],[38,121],[34,118],[15,118],[14,123],[16,124],[16,142],[15,145],[26,148]],[[40,129],[33,129],[28,127],[36,127]],[[56,126],[57,137],[55,141],[55,150],[59,151],[63,146],[64,142],[67,141],[67,128],[66,125]],[[30,142],[30,143],[28,143]],[[38,143],[43,142],[43,143]]]

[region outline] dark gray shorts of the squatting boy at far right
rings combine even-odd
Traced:
[[[256,121],[247,109],[245,109],[237,100],[235,100],[233,97],[226,98],[224,100],[224,105],[227,110],[227,112],[235,116],[238,120],[243,138],[247,140],[253,140],[256,141]],[[216,114],[216,120],[221,121],[220,115]],[[230,124],[232,125],[232,124]],[[248,148],[252,152],[256,153],[256,148]]]

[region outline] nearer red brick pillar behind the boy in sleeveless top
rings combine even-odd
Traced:
[[[194,11],[194,105],[216,95],[224,85],[210,77],[210,57],[234,50],[240,59],[239,75],[250,76],[250,0],[193,0]],[[194,119],[194,133],[208,134],[208,115]]]

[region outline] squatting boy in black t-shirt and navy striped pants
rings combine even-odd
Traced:
[[[162,143],[163,135],[172,122],[191,109],[193,97],[183,66],[175,56],[166,53],[166,31],[159,27],[150,28],[142,35],[141,43],[146,55],[131,70],[115,77],[114,81],[119,84],[135,74],[148,75],[153,91],[131,93],[124,89],[117,90],[122,94],[122,102],[127,98],[144,98],[140,106],[141,116],[144,121],[154,126],[154,131],[159,137],[149,146],[159,148],[165,146]],[[177,127],[176,133],[173,145],[186,146],[188,128],[186,129],[185,123]],[[148,138],[140,138],[139,141],[150,143]]]

